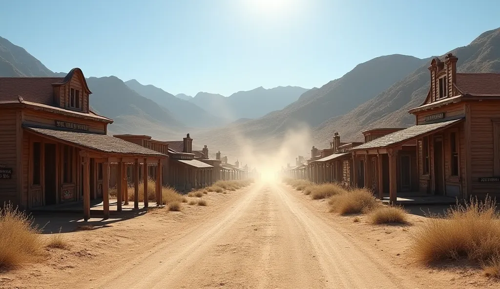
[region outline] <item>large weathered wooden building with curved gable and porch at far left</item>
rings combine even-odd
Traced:
[[[79,68],[65,77],[0,77],[1,203],[10,201],[30,209],[82,201],[88,219],[90,199],[103,198],[106,217],[109,163],[120,167],[134,163],[137,176],[139,163],[157,165],[167,157],[107,135],[112,120],[91,111],[90,93]],[[123,170],[116,177],[121,184]],[[137,185],[138,177],[136,195]],[[159,187],[156,192],[160,196]]]

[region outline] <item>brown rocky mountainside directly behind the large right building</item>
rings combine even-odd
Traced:
[[[500,72],[500,28],[486,31],[470,44],[450,52],[458,57],[458,72]],[[359,140],[362,138],[360,131],[368,128],[413,125],[414,116],[407,110],[425,99],[430,81],[429,63],[430,58],[372,99],[321,123],[313,132],[316,143],[326,145],[334,131],[343,138]]]

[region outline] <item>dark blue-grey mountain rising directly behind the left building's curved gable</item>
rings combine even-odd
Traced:
[[[165,136],[183,128],[170,110],[130,89],[116,76],[90,77],[90,104],[99,114],[114,119],[112,133]],[[179,134],[180,135],[180,134]]]

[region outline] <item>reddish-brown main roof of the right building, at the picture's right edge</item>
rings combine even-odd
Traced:
[[[463,94],[500,95],[500,73],[456,73],[456,86]]]

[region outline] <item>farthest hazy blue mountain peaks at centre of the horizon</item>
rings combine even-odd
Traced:
[[[229,120],[257,118],[270,111],[281,109],[297,100],[308,89],[299,86],[277,86],[265,89],[262,86],[248,91],[238,91],[228,97],[220,94],[198,92],[189,101],[208,111],[218,110]]]

